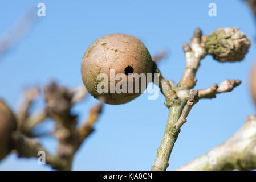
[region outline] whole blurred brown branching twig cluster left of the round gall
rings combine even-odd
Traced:
[[[19,122],[22,125],[18,131],[13,133],[11,144],[13,151],[16,151],[19,157],[26,158],[38,157],[38,151],[44,151],[46,153],[46,164],[50,164],[54,169],[70,170],[75,152],[82,144],[84,138],[90,135],[92,125],[101,113],[103,101],[91,109],[90,118],[88,118],[85,127],[83,127],[84,130],[90,131],[90,133],[79,135],[76,130],[76,115],[71,114],[71,108],[86,97],[87,90],[84,86],[69,90],[63,86],[58,86],[52,81],[50,85],[44,86],[44,98],[47,105],[42,111],[30,115],[30,106],[36,96],[38,96],[38,93],[38,88],[28,89],[25,92],[23,107],[18,112]],[[56,155],[49,154],[39,142],[34,142],[34,140],[29,138],[38,136],[32,135],[31,130],[47,117],[55,121],[56,129],[53,134],[59,141]],[[88,129],[89,127],[90,130]]]

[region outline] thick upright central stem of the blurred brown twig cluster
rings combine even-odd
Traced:
[[[67,166],[60,170],[70,170],[76,150],[78,135],[76,134],[76,115],[71,114],[73,93],[55,82],[44,86],[44,98],[47,102],[49,116],[55,121],[55,137],[58,139],[57,155],[66,160]]]

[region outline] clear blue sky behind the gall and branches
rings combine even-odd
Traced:
[[[69,88],[82,83],[80,64],[87,47],[109,33],[125,33],[141,39],[154,55],[169,51],[159,68],[176,83],[185,68],[182,43],[188,42],[193,30],[204,34],[219,27],[240,27],[252,41],[241,63],[221,64],[207,56],[197,73],[196,89],[207,88],[226,78],[239,78],[242,84],[231,93],[213,100],[200,100],[193,107],[188,122],[169,160],[169,170],[176,169],[224,142],[245,122],[246,115],[255,114],[249,92],[249,73],[256,55],[255,20],[246,3],[239,0],[197,1],[1,1],[0,34],[9,30],[17,18],[39,2],[46,4],[46,17],[39,18],[30,34],[0,60],[0,96],[17,109],[23,89],[43,85],[52,78]],[[217,17],[208,16],[208,4],[217,5]],[[124,105],[105,105],[95,125],[95,133],[76,153],[76,170],[148,170],[165,130],[168,109],[165,98],[147,100],[143,94]],[[97,100],[88,96],[74,108],[79,123],[88,116]],[[40,101],[33,108],[42,107]],[[52,129],[50,121],[37,130]],[[53,138],[42,138],[49,151],[55,151]],[[15,154],[0,162],[0,169],[49,170],[34,159],[18,159]]]

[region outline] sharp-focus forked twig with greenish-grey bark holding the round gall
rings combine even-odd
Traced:
[[[151,170],[165,170],[168,167],[170,154],[180,133],[180,128],[186,122],[186,117],[199,98],[214,97],[217,93],[230,92],[241,83],[239,80],[225,80],[219,86],[214,84],[208,89],[192,92],[194,85],[196,85],[196,72],[200,66],[200,61],[207,54],[206,38],[202,35],[201,30],[197,29],[194,31],[190,45],[184,43],[186,68],[177,86],[171,86],[170,82],[161,77],[161,74],[159,75],[160,89],[166,98],[165,105],[169,108],[169,117],[164,137],[157,150],[156,160]],[[191,96],[189,93],[192,93]],[[186,107],[183,109],[185,105]]]

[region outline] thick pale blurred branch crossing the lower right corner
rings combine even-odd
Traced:
[[[256,115],[247,117],[242,128],[220,146],[177,170],[233,169],[256,169]]]

